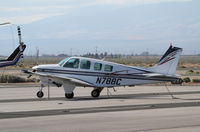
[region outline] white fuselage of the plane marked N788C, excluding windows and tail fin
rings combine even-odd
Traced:
[[[88,59],[88,58],[87,58]],[[47,83],[47,76],[58,76],[60,78],[73,78],[75,80],[80,80],[88,83],[88,86],[91,87],[116,87],[116,86],[131,86],[131,85],[139,85],[139,84],[148,84],[148,83],[157,83],[163,80],[159,78],[147,78],[143,76],[143,74],[151,73],[151,71],[147,71],[145,68],[137,68],[131,66],[125,66],[121,64],[100,61],[95,59],[88,59],[91,61],[90,69],[81,69],[79,68],[66,68],[56,65],[40,65],[36,66],[33,69],[37,69],[37,72],[46,77],[40,77],[43,83]],[[99,71],[93,69],[94,64],[98,62],[102,64],[102,68]],[[105,65],[112,65],[112,72],[105,72]],[[51,79],[51,81],[55,81],[58,83],[63,83],[61,80]],[[167,81],[167,80],[166,80]],[[76,84],[78,86],[78,84]],[[83,86],[81,84],[81,86]]]

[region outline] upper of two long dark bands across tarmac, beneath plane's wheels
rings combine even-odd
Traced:
[[[187,92],[172,92],[173,95],[185,95],[185,94],[200,94],[200,91],[187,91]],[[27,98],[27,99],[2,99],[0,103],[11,103],[11,102],[33,102],[33,101],[56,101],[56,100],[64,100],[64,101],[90,101],[90,100],[103,100],[103,99],[166,99],[166,95],[170,94],[167,92],[162,93],[137,93],[137,94],[123,94],[123,95],[102,95],[99,98],[92,98],[91,96],[79,96],[73,99],[66,99],[65,97],[51,97],[48,98]],[[159,98],[158,98],[159,97]],[[176,98],[180,99],[180,98]],[[200,98],[189,98],[182,100],[200,100]]]

